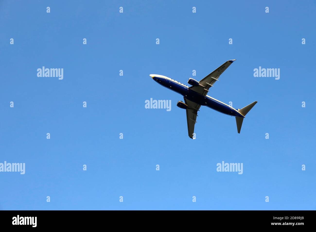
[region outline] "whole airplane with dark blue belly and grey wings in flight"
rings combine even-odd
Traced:
[[[193,78],[189,78],[188,84],[191,87],[181,84],[180,82],[173,80],[169,77],[150,74],[149,76],[155,80],[158,84],[167,87],[179,94],[184,98],[184,102],[178,101],[177,106],[186,110],[186,121],[188,124],[188,134],[191,139],[194,139],[194,126],[197,118],[197,111],[200,111],[201,105],[205,105],[213,110],[234,116],[236,118],[237,132],[240,134],[242,122],[252,107],[257,101],[245,106],[241,109],[234,109],[233,107],[225,104],[215,98],[206,95],[209,92],[210,87],[218,80],[219,76],[231,65],[234,60],[228,60],[221,66],[216,68],[213,72],[208,74],[202,80],[197,81]]]

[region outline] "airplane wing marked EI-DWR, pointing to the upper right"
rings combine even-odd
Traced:
[[[232,62],[235,60],[229,60],[223,63],[221,66],[216,68],[213,72],[208,74],[206,77],[204,77],[202,80],[199,81],[201,86],[191,86],[189,89],[192,89],[195,92],[198,92],[205,96],[207,92],[209,92],[209,88],[213,86],[213,84],[218,81],[219,76],[226,70],[226,68],[231,65]]]

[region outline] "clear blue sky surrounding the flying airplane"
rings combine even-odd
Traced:
[[[315,210],[315,10],[314,1],[1,1],[0,163],[26,170],[0,172],[0,209]],[[240,134],[234,117],[201,107],[191,140],[182,96],[149,74],[186,83],[230,59],[209,95],[258,104]],[[37,77],[42,66],[64,68],[64,79]],[[254,77],[259,66],[280,68],[280,79]],[[150,98],[171,100],[171,111],[145,109]],[[243,174],[217,172],[222,161],[243,163]]]

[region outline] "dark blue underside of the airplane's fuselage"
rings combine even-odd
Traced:
[[[205,105],[207,107],[212,108],[213,110],[216,110],[218,112],[221,112],[223,114],[227,114],[230,116],[244,117],[238,111],[229,107],[228,105],[225,105],[219,101],[216,101],[208,96],[203,96],[202,94],[199,94],[181,84],[178,84],[176,82],[173,82],[171,80],[161,78],[161,77],[153,77],[153,79],[157,83],[161,84],[162,86],[165,86],[166,88],[171,89],[181,94],[184,98],[192,102],[195,102],[199,105]]]

